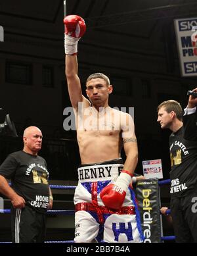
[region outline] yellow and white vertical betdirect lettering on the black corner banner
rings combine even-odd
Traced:
[[[150,201],[150,194],[152,190],[142,190],[143,197],[143,234],[144,234],[144,243],[151,243],[151,224],[152,224],[152,207]]]

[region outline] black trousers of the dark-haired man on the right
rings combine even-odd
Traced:
[[[171,217],[177,243],[197,243],[196,201],[197,191],[171,199]]]

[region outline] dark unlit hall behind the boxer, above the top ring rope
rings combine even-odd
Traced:
[[[44,135],[41,155],[51,179],[77,180],[79,153],[76,132],[65,131],[63,115],[70,106],[64,75],[62,0],[1,1],[0,123],[9,113],[19,136],[35,125]],[[194,0],[67,0],[67,14],[85,19],[87,32],[79,41],[79,77],[108,75],[114,85],[111,107],[134,107],[142,161],[162,159],[169,178],[169,131],[157,124],[156,107],[165,99],[186,106],[186,91],[196,78],[181,77],[173,20],[197,15]],[[0,163],[22,148],[22,138],[0,138]],[[123,154],[123,157],[124,154]]]

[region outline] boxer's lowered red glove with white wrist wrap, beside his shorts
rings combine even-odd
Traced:
[[[103,188],[100,192],[100,199],[104,205],[110,209],[120,209],[125,200],[126,191],[130,183],[131,175],[121,172],[114,184],[108,184],[108,186]]]

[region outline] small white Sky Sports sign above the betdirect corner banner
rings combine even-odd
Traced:
[[[161,159],[142,161],[142,167],[146,179],[163,178]]]

